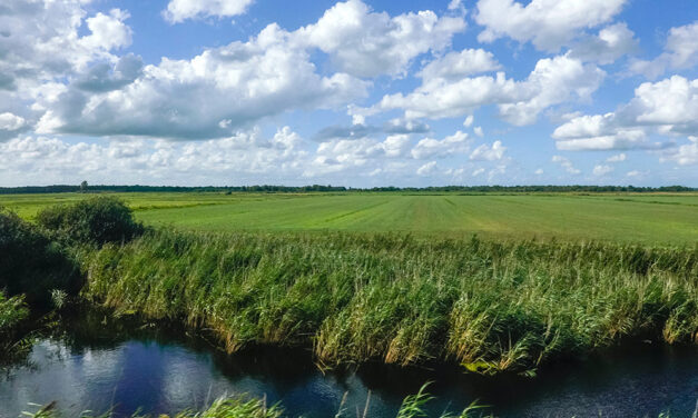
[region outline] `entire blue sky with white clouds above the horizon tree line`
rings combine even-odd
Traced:
[[[0,186],[698,187],[695,0],[3,0]]]

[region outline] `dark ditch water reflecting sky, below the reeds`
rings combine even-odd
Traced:
[[[402,399],[433,381],[431,414],[475,399],[500,417],[690,417],[698,399],[698,350],[645,346],[559,365],[534,379],[483,378],[444,370],[362,367],[323,375],[305,351],[255,349],[227,356],[191,338],[67,321],[35,345],[24,364],[0,375],[0,417],[58,401],[65,416],[114,408],[117,416],[201,408],[223,395],[281,401],[291,416],[394,417]],[[181,334],[181,332],[180,332]]]

